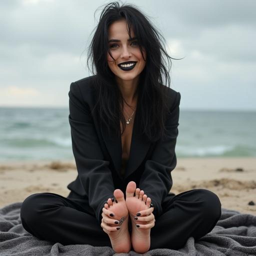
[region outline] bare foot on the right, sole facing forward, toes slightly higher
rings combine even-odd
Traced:
[[[145,224],[145,222],[136,220],[135,218],[139,218],[139,215],[136,215],[137,212],[149,208],[151,199],[144,194],[143,190],[136,188],[134,181],[130,181],[126,187],[125,201],[132,222],[131,243],[133,249],[136,252],[144,253],[150,247],[150,228],[141,228],[142,225],[139,227],[139,224]]]

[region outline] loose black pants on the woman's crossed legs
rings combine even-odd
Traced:
[[[210,232],[221,215],[219,198],[207,189],[168,194],[162,207],[163,214],[156,218],[150,232],[150,249],[181,248],[188,237],[197,240]],[[42,240],[111,247],[108,235],[86,208],[72,192],[67,197],[35,193],[23,201],[20,217],[23,227]]]

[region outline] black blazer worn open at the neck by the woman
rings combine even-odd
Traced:
[[[122,177],[121,137],[108,136],[107,128],[100,128],[98,116],[90,113],[97,100],[94,78],[93,75],[72,82],[68,92],[68,119],[78,175],[67,188],[82,197],[101,222],[105,200],[113,197],[116,188],[125,192],[127,183],[133,180],[151,198],[157,217],[162,213],[161,202],[172,186],[170,171],[176,166],[180,93],[168,88],[171,113],[165,123],[168,132],[164,139],[148,142],[139,128],[141,113],[139,110],[135,112],[130,155]]]

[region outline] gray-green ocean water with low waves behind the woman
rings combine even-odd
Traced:
[[[0,161],[73,159],[68,108],[0,107]],[[177,157],[256,156],[256,112],[180,110]]]

